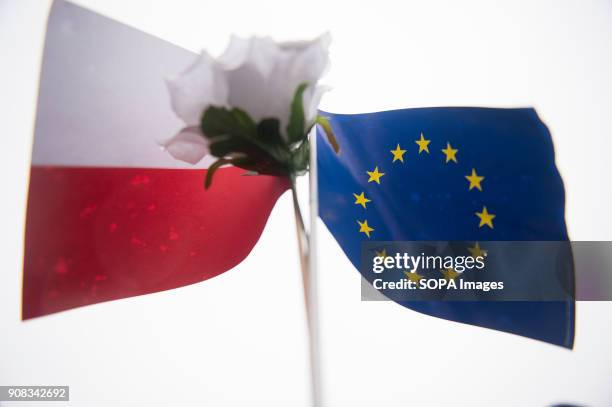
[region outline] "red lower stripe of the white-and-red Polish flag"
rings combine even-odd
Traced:
[[[240,263],[281,178],[206,170],[33,166],[23,319],[197,283]]]

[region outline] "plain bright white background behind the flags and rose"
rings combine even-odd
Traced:
[[[535,106],[555,140],[571,237],[612,240],[609,1],[78,3],[194,51],[220,53],[231,33],[285,40],[329,30],[329,111]],[[0,384],[70,385],[79,406],[307,406],[288,196],[253,253],[218,278],[20,322],[48,7],[0,0]],[[612,405],[610,304],[578,304],[567,351],[361,302],[358,273],[321,223],[319,249],[328,406]]]

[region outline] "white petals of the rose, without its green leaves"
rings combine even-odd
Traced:
[[[209,106],[236,107],[253,120],[275,118],[287,137],[291,101],[296,88],[304,91],[304,116],[313,123],[325,87],[319,78],[329,62],[330,37],[312,41],[276,43],[269,37],[232,37],[218,59],[203,51],[182,74],[166,81],[172,109],[183,120],[183,128],[164,143],[175,158],[196,164],[208,153],[200,119]]]

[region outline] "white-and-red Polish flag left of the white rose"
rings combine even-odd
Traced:
[[[49,17],[25,232],[23,319],[181,287],[251,251],[281,178],[160,147],[182,123],[164,78],[194,54],[64,1]]]

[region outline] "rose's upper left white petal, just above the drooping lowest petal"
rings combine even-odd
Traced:
[[[197,126],[210,105],[226,106],[228,84],[222,67],[206,52],[182,74],[168,78],[172,109],[188,126]]]

